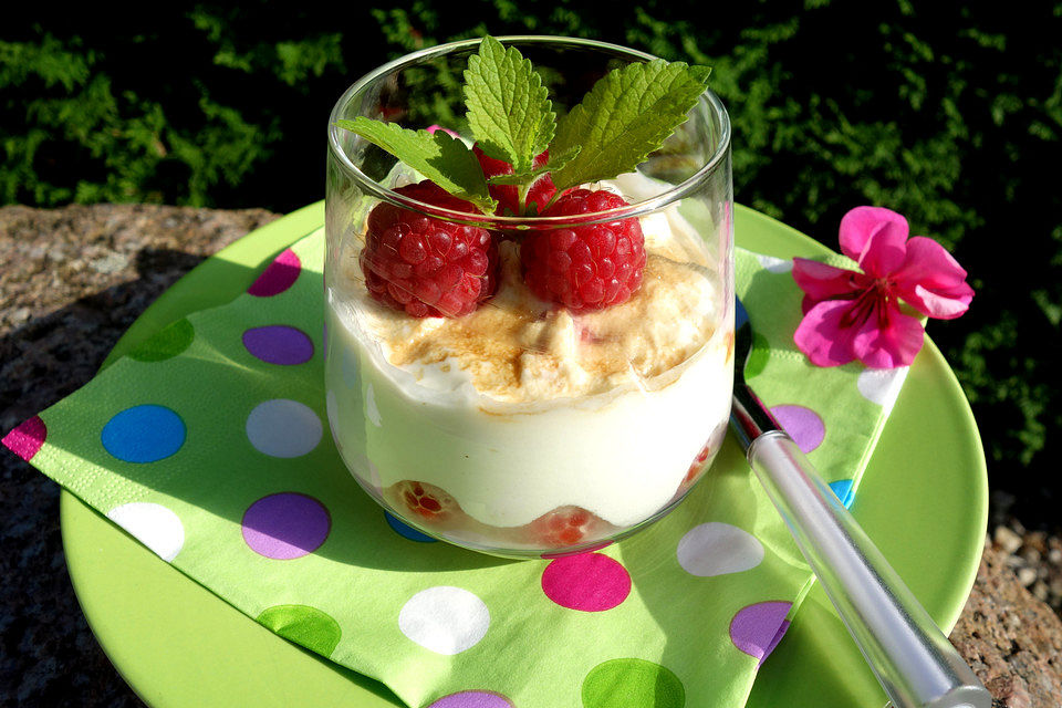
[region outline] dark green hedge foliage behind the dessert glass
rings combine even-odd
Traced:
[[[886,206],[969,270],[972,309],[930,333],[974,405],[1003,492],[997,508],[1012,494],[1023,518],[1056,521],[1062,3],[598,8],[306,0],[6,11],[0,202],[296,208],[323,194],[326,116],[354,79],[486,31],[603,39],[710,64],[733,119],[739,201],[833,248],[848,208]]]

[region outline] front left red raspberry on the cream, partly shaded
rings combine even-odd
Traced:
[[[430,180],[398,194],[454,211],[478,214]],[[374,300],[414,317],[459,317],[493,294],[498,247],[487,229],[433,219],[382,201],[368,215],[361,257]]]

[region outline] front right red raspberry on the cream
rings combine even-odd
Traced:
[[[542,216],[577,217],[629,206],[611,191],[575,189]],[[537,231],[520,247],[523,280],[539,298],[569,310],[626,302],[642,284],[645,238],[636,218]]]

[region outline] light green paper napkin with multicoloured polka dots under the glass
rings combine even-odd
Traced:
[[[595,553],[510,562],[384,513],[325,431],[323,232],[173,323],[3,442],[252,620],[421,708],[745,704],[812,575],[728,441],[671,514]],[[738,254],[764,400],[851,501],[905,372],[792,344],[788,261]]]

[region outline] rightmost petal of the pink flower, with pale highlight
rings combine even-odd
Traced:
[[[907,259],[893,273],[894,292],[923,314],[954,320],[974,299],[966,271],[943,246],[924,236],[907,242]]]

